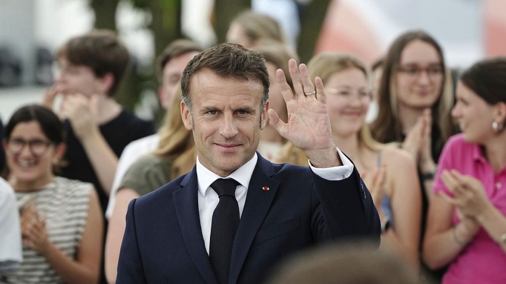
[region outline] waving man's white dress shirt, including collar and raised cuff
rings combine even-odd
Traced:
[[[315,168],[309,163],[311,170],[322,178],[328,180],[341,180],[349,177],[353,172],[353,164],[338,149],[339,157],[343,166],[332,168]],[[257,165],[258,156],[255,156],[240,168],[232,172],[226,178],[235,179],[239,185],[235,190],[235,198],[239,205],[239,217],[242,216],[242,209],[246,201],[249,180]],[[202,228],[202,237],[204,238],[205,250],[209,254],[209,239],[211,236],[211,222],[213,221],[213,212],[220,201],[218,194],[210,187],[215,180],[223,178],[216,173],[204,167],[197,157],[197,181],[198,181],[198,212],[200,216],[200,226]],[[209,190],[210,189],[210,190]]]

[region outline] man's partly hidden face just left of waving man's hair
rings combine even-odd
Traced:
[[[198,52],[187,52],[180,56],[176,56],[169,60],[163,67],[162,82],[158,89],[158,97],[161,106],[168,110],[171,107],[172,97],[174,96],[174,89],[181,79],[181,75],[185,70],[186,65],[190,60],[197,55]]]

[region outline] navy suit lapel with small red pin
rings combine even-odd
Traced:
[[[270,178],[275,173],[271,162],[265,160],[258,152],[257,155],[257,166],[249,182],[246,202],[232,248],[229,283],[237,282],[251,243],[269,212],[279,186],[278,180]],[[264,186],[267,186],[268,190]]]

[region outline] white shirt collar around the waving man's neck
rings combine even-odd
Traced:
[[[255,170],[255,167],[257,165],[258,156],[255,152],[255,155],[251,160],[249,160],[247,163],[233,171],[229,176],[225,178],[233,178],[237,182],[239,182],[242,186],[248,189],[249,180],[251,179],[251,175],[253,174],[253,171]],[[223,178],[222,176],[217,175],[216,173],[210,171],[208,168],[204,167],[197,156],[197,182],[198,182],[198,191],[202,196],[205,197],[205,193],[207,192],[207,188],[211,186],[211,183],[213,183],[218,178]]]

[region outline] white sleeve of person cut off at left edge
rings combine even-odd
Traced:
[[[16,197],[11,185],[0,177],[0,271],[16,269],[22,255]]]

